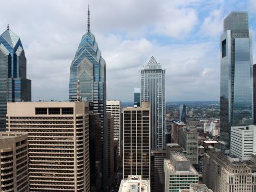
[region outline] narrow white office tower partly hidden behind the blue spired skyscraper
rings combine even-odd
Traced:
[[[107,112],[111,113],[114,118],[114,139],[120,140],[121,129],[121,101],[119,100],[107,100]],[[120,152],[120,143],[118,145],[118,153]]]

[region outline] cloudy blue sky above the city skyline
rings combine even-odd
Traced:
[[[220,35],[231,11],[248,11],[256,61],[256,1],[22,0],[1,2],[22,42],[32,100],[68,100],[71,61],[87,29],[107,68],[107,99],[133,101],[140,69],[151,55],[166,69],[166,101],[219,100]]]

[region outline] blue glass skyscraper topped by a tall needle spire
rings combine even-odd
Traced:
[[[79,81],[79,84],[78,84]],[[79,91],[78,91],[79,89]],[[79,92],[79,95],[77,93]],[[78,97],[77,97],[78,96]],[[107,186],[107,121],[106,121],[106,64],[101,57],[98,43],[90,29],[88,9],[87,31],[79,43],[70,67],[69,101],[82,100],[93,102],[93,110],[102,116],[101,127],[101,164],[102,187]]]

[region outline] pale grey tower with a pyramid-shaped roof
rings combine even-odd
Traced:
[[[141,73],[141,102],[151,103],[151,149],[165,149],[165,69],[152,56]]]

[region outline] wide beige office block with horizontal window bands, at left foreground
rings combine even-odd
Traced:
[[[89,103],[7,103],[6,127],[28,134],[29,191],[90,191]]]

